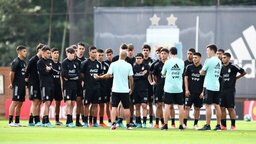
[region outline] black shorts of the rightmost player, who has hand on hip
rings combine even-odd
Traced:
[[[223,90],[221,92],[221,103],[220,106],[221,107],[225,107],[225,108],[234,108],[235,107],[235,90]]]

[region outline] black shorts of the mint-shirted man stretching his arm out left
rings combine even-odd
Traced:
[[[120,101],[122,102],[124,109],[128,109],[130,107],[129,93],[112,92],[112,107],[118,107]]]

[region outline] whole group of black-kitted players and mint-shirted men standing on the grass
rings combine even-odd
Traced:
[[[10,72],[9,87],[13,90],[13,97],[9,108],[9,126],[21,126],[20,109],[25,101],[27,87],[32,102],[29,126],[54,127],[49,120],[49,108],[53,100],[55,100],[55,125],[63,125],[59,120],[59,114],[60,103],[64,99],[66,127],[111,126],[112,129],[116,129],[116,126],[125,127],[122,123],[125,116],[128,122],[127,129],[159,128],[161,121],[161,129],[167,130],[170,118],[171,128],[176,127],[173,105],[177,104],[180,130],[187,127],[192,105],[194,106],[193,128],[211,130],[211,108],[214,105],[217,115],[217,125],[214,130],[227,130],[226,109],[230,115],[231,129],[234,130],[236,129],[235,84],[236,80],[243,77],[246,72],[239,66],[233,65],[230,62],[231,55],[222,49],[218,50],[216,45],[208,45],[206,48],[208,58],[202,65],[201,54],[193,48],[188,49],[187,60],[183,61],[177,57],[177,48],[159,47],[156,49],[158,58],[154,61],[149,57],[151,47],[147,44],[143,45],[141,52],[136,55],[132,44],[122,44],[120,55],[115,57],[110,48],[104,52],[102,49],[90,46],[89,58],[85,58],[85,45],[78,43],[66,48],[67,57],[60,63],[58,49],[50,49],[49,46],[40,43],[36,47],[37,54],[26,65],[26,47],[18,46],[18,57],[13,60]],[[112,95],[117,94],[112,89],[112,85],[118,87],[115,82],[123,79],[116,75],[118,80],[113,84],[115,73],[110,76],[105,75],[108,75],[109,71],[112,72],[112,69],[109,70],[110,65],[115,63],[116,67],[120,68],[125,65],[121,62],[118,65],[117,62],[122,59],[132,67],[127,81],[130,93],[128,101],[121,98],[123,103],[116,103],[113,101],[116,98]],[[237,76],[237,73],[240,75]],[[115,109],[112,115],[116,115],[114,119],[111,119],[110,114],[112,102]],[[156,105],[155,114],[153,104]],[[206,124],[199,128],[198,120],[203,104],[206,108]],[[42,122],[40,121],[41,105],[44,105]],[[103,121],[105,113],[108,124]],[[13,121],[14,115],[15,121]],[[76,115],[75,122],[73,115]],[[154,125],[153,115],[155,115]]]

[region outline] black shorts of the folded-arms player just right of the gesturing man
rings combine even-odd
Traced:
[[[141,104],[148,102],[148,91],[134,91],[132,93],[132,100],[134,104]]]

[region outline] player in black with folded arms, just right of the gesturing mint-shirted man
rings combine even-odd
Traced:
[[[134,79],[134,89],[133,89],[133,102],[136,107],[136,126],[137,128],[147,128],[147,101],[148,101],[148,74],[149,66],[143,63],[143,54],[138,53],[136,56],[136,61],[133,65],[133,79]],[[141,125],[141,107],[142,107],[142,117],[143,123]]]

